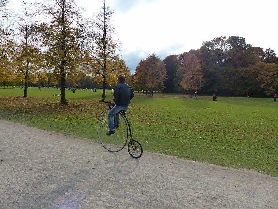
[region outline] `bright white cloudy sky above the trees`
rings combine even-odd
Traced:
[[[87,17],[100,12],[102,2],[76,0]],[[115,38],[122,43],[118,53],[131,73],[149,54],[163,60],[222,35],[243,37],[278,55],[276,0],[106,0],[106,5],[115,10]]]

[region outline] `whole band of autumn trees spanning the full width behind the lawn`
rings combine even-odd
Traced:
[[[130,75],[116,54],[120,43],[112,25],[114,10],[103,0],[100,13],[85,19],[74,0],[21,5],[18,14],[0,0],[0,85],[61,88],[113,88],[117,75],[136,90],[243,96],[278,92],[278,57],[245,42],[243,37],[216,37],[197,50],[172,54],[163,61],[155,54],[141,60]],[[36,21],[35,21],[36,20]],[[39,21],[41,20],[41,21]],[[9,23],[9,24],[6,24]]]

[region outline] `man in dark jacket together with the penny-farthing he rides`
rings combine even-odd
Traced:
[[[114,89],[115,103],[105,102],[108,103],[109,109],[104,110],[98,118],[97,135],[105,149],[117,152],[126,145],[130,134],[128,152],[132,157],[140,158],[143,148],[138,141],[133,140],[125,112],[128,110],[130,99],[134,97],[134,91],[125,81],[123,75],[118,75],[118,84]]]

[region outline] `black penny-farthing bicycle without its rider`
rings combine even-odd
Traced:
[[[115,127],[115,134],[112,134],[111,136],[106,135],[106,133],[109,132],[108,113],[115,106],[115,103],[105,103],[108,103],[107,105],[109,109],[104,110],[97,121],[97,136],[102,146],[110,152],[118,152],[126,146],[128,136],[130,136],[130,142],[127,145],[128,153],[133,158],[140,158],[143,154],[143,147],[137,140],[133,140],[132,138],[130,124],[126,118],[125,110],[121,110],[117,113],[120,117],[120,124],[118,128]],[[115,124],[116,115],[113,117]]]

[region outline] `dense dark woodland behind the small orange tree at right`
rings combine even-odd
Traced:
[[[267,97],[278,92],[278,57],[274,51],[252,47],[238,36],[216,37],[203,42],[200,49],[167,56],[163,60],[166,66],[163,92],[188,90],[186,93],[190,93],[185,80],[188,81],[188,58],[192,54],[200,63],[201,75],[191,77],[192,90],[198,90],[199,94],[246,96],[252,93]]]

